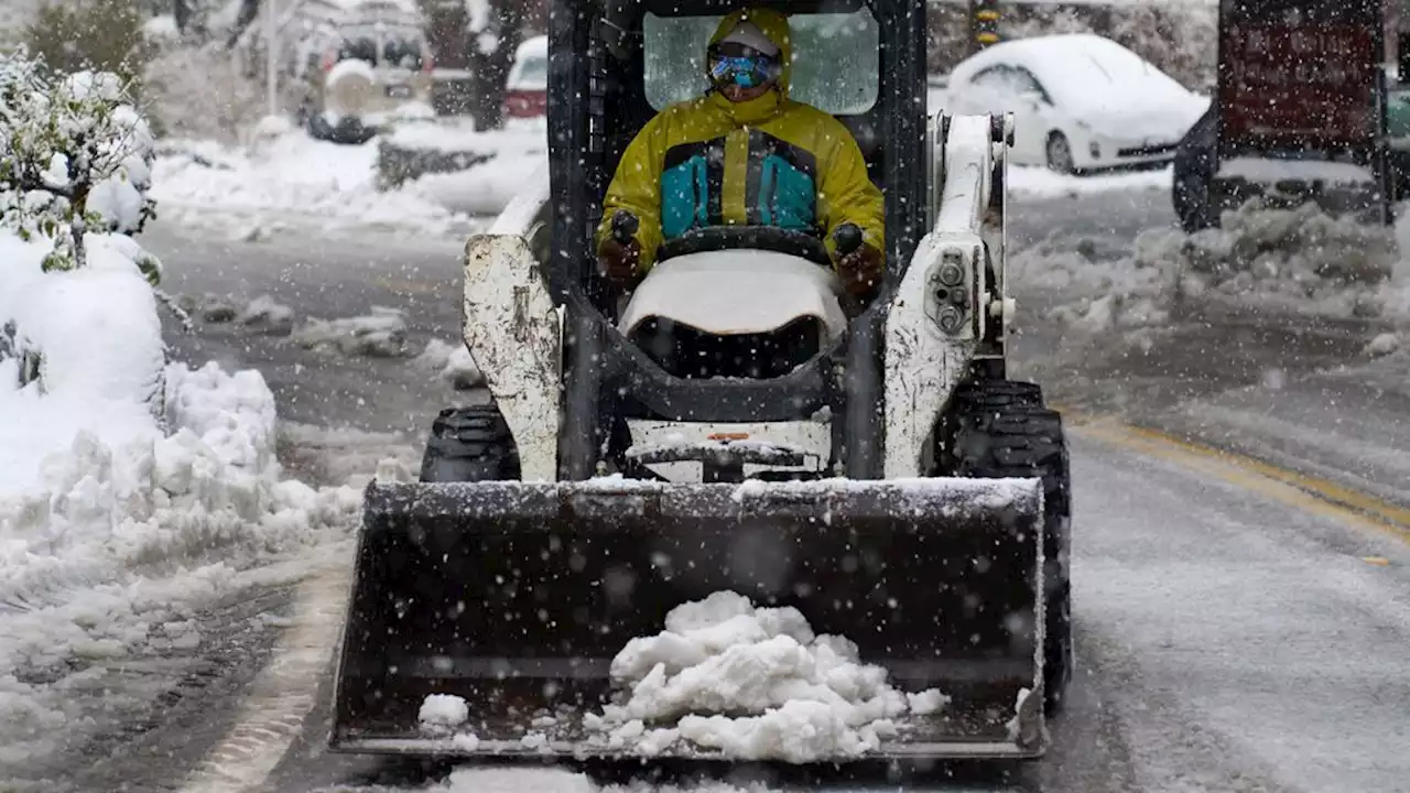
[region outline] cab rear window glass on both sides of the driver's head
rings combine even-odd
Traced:
[[[705,93],[705,47],[723,17],[646,14],[646,99],[663,110]],[[838,114],[864,113],[877,99],[878,37],[871,11],[799,14],[792,27],[790,96]]]

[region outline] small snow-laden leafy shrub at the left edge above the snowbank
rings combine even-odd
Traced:
[[[117,75],[51,76],[24,52],[0,56],[0,226],[52,238],[47,271],[83,267],[86,233],[131,234],[155,216],[154,159]],[[157,284],[157,260],[138,265]]]

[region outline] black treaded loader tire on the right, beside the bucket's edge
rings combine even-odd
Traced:
[[[1043,406],[1042,389],[1032,382],[969,382],[956,391],[953,405],[946,457],[955,476],[1043,481],[1043,708],[1055,715],[1073,669],[1072,476],[1062,416]]]

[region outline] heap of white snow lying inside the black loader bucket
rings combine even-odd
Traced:
[[[856,758],[929,715],[949,697],[905,693],[866,665],[846,638],[816,635],[798,610],[760,608],[721,591],[675,607],[666,631],[636,638],[612,659],[613,704],[584,725],[611,749],[642,755],[711,753],[794,763]],[[433,694],[420,720],[431,734],[478,744],[464,700]],[[543,717],[550,725],[553,717]],[[541,732],[525,737],[526,746]]]

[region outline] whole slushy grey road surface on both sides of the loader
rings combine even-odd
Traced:
[[[1173,220],[1167,193],[1149,185],[1034,190],[1015,196],[1011,219],[1015,248],[1042,244],[1098,264],[1120,264],[1139,231]],[[278,404],[281,459],[302,478],[343,483],[385,456],[415,466],[436,411],[479,398],[416,357],[455,339],[460,238],[330,233],[290,220],[227,241],[158,222],[144,243],[166,262],[164,285],[196,299],[202,316],[196,334],[168,327],[173,357],[259,368]],[[956,776],[916,785],[1410,790],[1402,751],[1410,744],[1410,536],[1306,495],[1410,523],[1404,357],[1359,357],[1380,330],[1375,320],[1218,305],[1172,317],[1158,333],[1074,333],[1056,319],[1072,289],[1035,278],[1045,265],[1021,271],[1015,356],[1072,409],[1081,670],[1043,762],[998,776],[948,769]],[[1120,268],[1112,272],[1115,289]],[[367,319],[319,322],[348,317]],[[1101,416],[1277,467],[1230,464]],[[1349,500],[1338,484],[1355,490]],[[214,604],[200,615],[199,653],[134,659],[131,683],[113,700],[121,707],[85,748],[94,762],[55,766],[37,789],[100,790],[113,779],[134,790],[592,789],[570,772],[451,773],[323,752],[329,680],[317,659],[336,632],[347,553],[336,543],[316,549],[295,563],[324,570],[312,580],[275,576],[275,587]],[[807,789],[811,780],[730,779],[719,790],[740,787]]]

